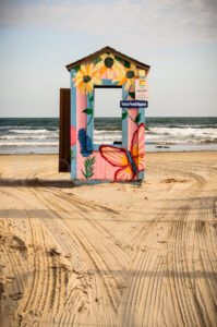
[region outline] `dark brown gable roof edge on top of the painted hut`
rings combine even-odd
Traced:
[[[137,61],[137,60],[135,60],[135,59],[133,59],[131,57],[128,57],[128,56],[125,56],[125,55],[123,55],[123,53],[121,53],[121,52],[119,52],[116,49],[110,48],[110,47],[105,47],[105,48],[103,48],[103,49],[100,49],[100,50],[98,50],[98,51],[96,51],[96,52],[94,52],[94,53],[92,53],[92,55],[89,55],[87,57],[84,57],[84,58],[82,58],[82,59],[80,59],[80,60],[77,60],[75,62],[72,62],[72,63],[65,65],[65,68],[70,72],[70,70],[73,69],[73,68],[75,68],[76,65],[80,65],[80,64],[82,64],[82,63],[84,63],[86,61],[91,61],[92,59],[94,59],[94,58],[96,58],[96,57],[98,57],[98,56],[100,56],[100,55],[103,55],[105,52],[112,52],[113,55],[120,57],[121,59],[128,60],[128,61],[134,63],[136,65],[136,68],[145,70],[147,72],[150,69],[150,66],[148,64],[140,62],[140,61]]]

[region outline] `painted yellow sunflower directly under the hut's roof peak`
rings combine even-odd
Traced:
[[[108,73],[108,78],[113,78],[113,74],[120,75],[123,72],[123,65],[116,60],[112,53],[104,53],[100,56],[101,61],[99,61],[95,69],[99,71],[100,75],[105,72]]]

